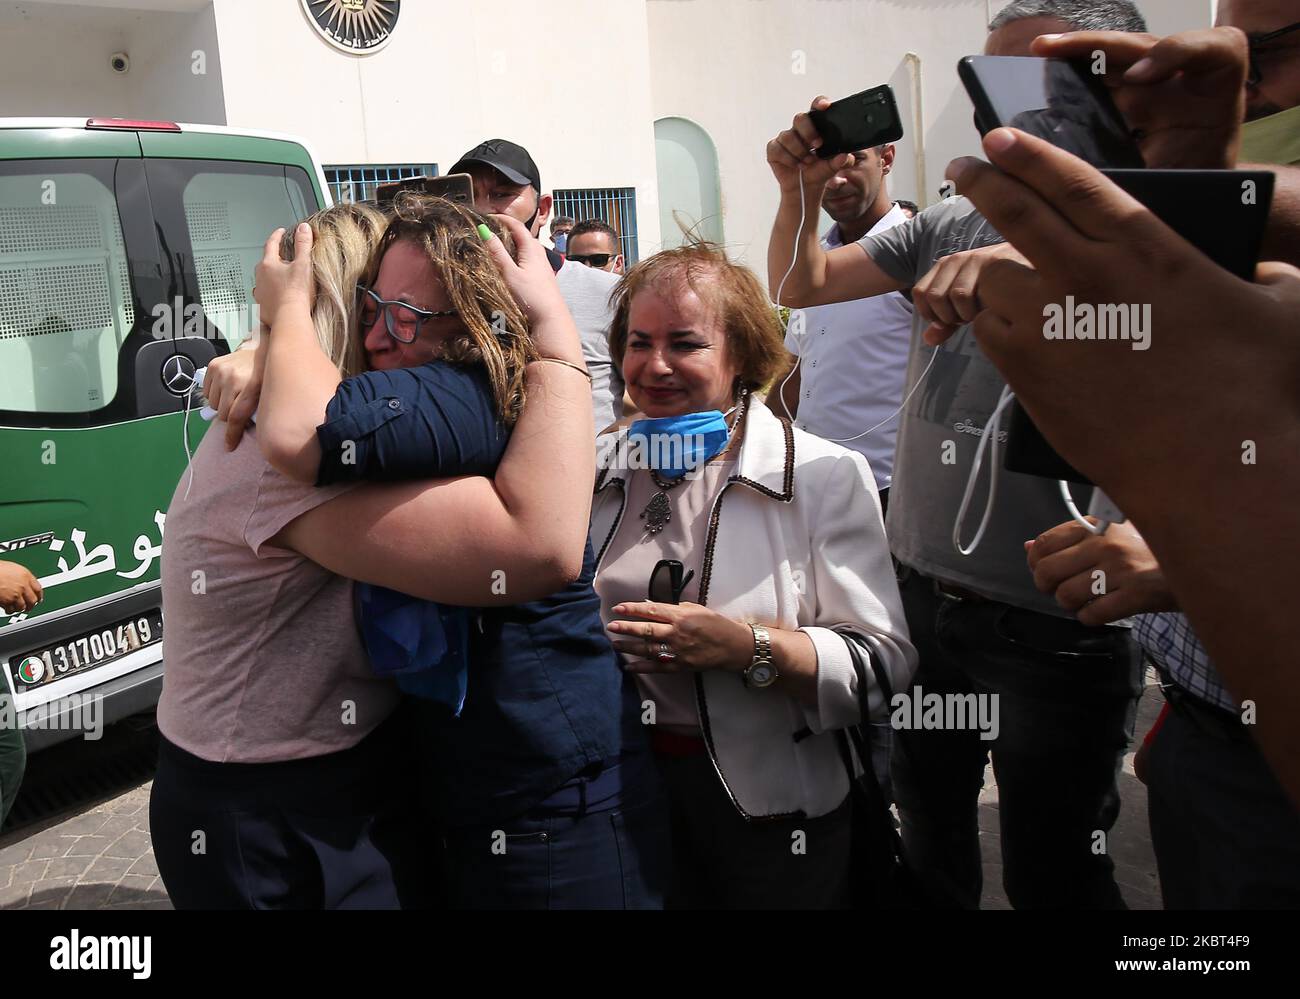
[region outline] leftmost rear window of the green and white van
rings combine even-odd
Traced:
[[[0,164],[0,408],[87,412],[117,394],[135,311],[104,164]]]

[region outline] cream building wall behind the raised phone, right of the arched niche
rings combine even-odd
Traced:
[[[890,194],[932,203],[944,169],[978,152],[971,105],[957,61],[979,52],[985,0],[645,0],[650,23],[654,117],[698,122],[718,146],[723,229],[733,255],[764,269],[776,186],[764,147],[824,94],[832,99],[890,83],[907,131]],[[1139,0],[1167,34],[1210,23],[1210,0]],[[920,60],[924,181],[916,176],[911,75]],[[823,221],[824,217],[823,217]],[[647,250],[645,245],[644,250]]]

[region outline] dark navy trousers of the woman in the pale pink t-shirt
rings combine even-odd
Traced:
[[[429,904],[413,790],[393,725],[339,753],[213,764],[166,739],[150,796],[159,873],[178,909]]]

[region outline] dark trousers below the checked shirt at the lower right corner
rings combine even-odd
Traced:
[[[1148,817],[1166,909],[1300,909],[1300,812],[1243,734],[1178,708],[1156,734]]]

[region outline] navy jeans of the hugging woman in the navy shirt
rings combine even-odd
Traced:
[[[646,753],[580,774],[523,816],[451,827],[452,908],[659,909],[668,814]]]

